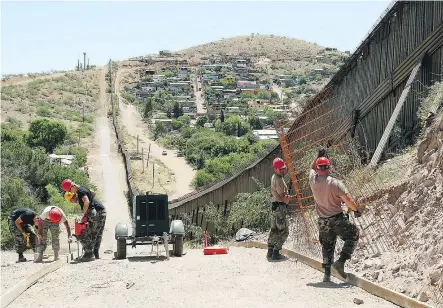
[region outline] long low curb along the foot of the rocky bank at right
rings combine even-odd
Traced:
[[[261,243],[261,242],[256,242],[256,241],[233,242],[233,243],[230,243],[229,246],[268,249],[268,245],[266,243]],[[306,265],[309,265],[310,267],[313,267],[316,270],[323,272],[323,268],[321,266],[320,261],[317,261],[317,260],[312,259],[310,257],[301,255],[299,253],[296,253],[296,252],[294,252],[292,250],[288,250],[288,249],[282,249],[281,252],[282,252],[282,254],[287,255],[288,257],[296,258],[298,261],[300,261]],[[332,275],[344,282],[348,282],[356,287],[359,287],[359,288],[361,288],[373,295],[381,297],[384,300],[394,303],[400,307],[404,307],[404,308],[433,308],[432,306],[429,306],[429,305],[422,303],[418,300],[415,300],[411,297],[408,297],[408,296],[403,295],[401,293],[387,289],[385,287],[379,286],[369,280],[366,280],[361,277],[357,277],[351,273],[348,273],[348,278],[346,280],[343,279],[335,271],[335,269],[332,270]]]

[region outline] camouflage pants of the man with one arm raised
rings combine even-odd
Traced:
[[[319,218],[318,229],[324,268],[331,267],[334,262],[337,236],[344,241],[340,259],[344,261],[351,258],[360,234],[357,227],[349,221],[347,215],[339,214],[329,218]]]

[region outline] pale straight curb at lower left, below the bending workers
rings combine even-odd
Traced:
[[[34,285],[43,276],[58,270],[66,264],[69,264],[69,262],[74,259],[74,253],[76,253],[76,251],[65,256],[60,256],[59,260],[49,263],[47,266],[31,274],[30,276],[26,277],[15,286],[7,290],[0,298],[1,308],[8,307],[8,305],[12,303],[17,297],[19,297],[20,294]]]

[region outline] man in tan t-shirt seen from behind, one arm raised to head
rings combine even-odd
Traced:
[[[319,240],[322,246],[323,264],[325,269],[324,282],[331,280],[331,266],[346,278],[344,271],[346,260],[351,258],[359,239],[357,227],[349,221],[349,215],[343,213],[341,202],[354,211],[355,217],[360,217],[361,212],[354,200],[349,196],[345,185],[330,176],[330,162],[326,150],[319,150],[317,159],[314,160],[309,173],[309,185],[314,195],[318,215]],[[363,210],[361,208],[360,210]],[[334,262],[335,243],[339,236],[343,241],[340,257]],[[333,263],[334,262],[334,263]]]

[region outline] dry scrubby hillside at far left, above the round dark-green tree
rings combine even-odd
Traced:
[[[75,129],[83,121],[84,106],[84,133],[89,135],[99,101],[99,76],[98,70],[90,70],[56,73],[15,84],[2,83],[1,122],[13,118],[27,128],[30,120],[47,117]]]

